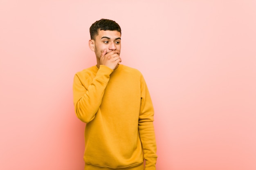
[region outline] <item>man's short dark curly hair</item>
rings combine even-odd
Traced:
[[[99,34],[99,30],[118,31],[121,33],[121,28],[117,22],[108,19],[101,19],[94,22],[90,27],[90,35],[92,40],[95,40],[95,37]]]

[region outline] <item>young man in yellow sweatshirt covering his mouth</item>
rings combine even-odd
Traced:
[[[121,28],[101,19],[90,35],[97,65],[73,84],[75,113],[86,123],[85,170],[155,170],[153,105],[141,73],[119,64]]]

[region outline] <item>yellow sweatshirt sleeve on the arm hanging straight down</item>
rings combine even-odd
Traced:
[[[141,108],[139,114],[139,135],[146,160],[145,170],[155,170],[157,146],[154,131],[154,108],[146,82],[141,75]]]

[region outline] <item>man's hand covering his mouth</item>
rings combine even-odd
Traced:
[[[105,65],[115,70],[118,67],[118,63],[122,61],[119,54],[120,52],[117,50],[112,50],[107,53],[107,50],[104,49],[99,60],[100,65]]]

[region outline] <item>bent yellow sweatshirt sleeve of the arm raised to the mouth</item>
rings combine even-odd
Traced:
[[[85,79],[84,77],[78,74],[74,76],[74,108],[76,116],[81,121],[88,123],[94,119],[112,72],[112,69],[101,65],[88,88],[85,88],[81,82],[81,79]]]

